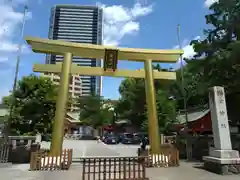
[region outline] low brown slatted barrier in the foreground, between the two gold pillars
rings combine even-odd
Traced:
[[[139,157],[83,158],[82,180],[148,180]]]

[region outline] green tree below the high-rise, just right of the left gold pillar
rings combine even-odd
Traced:
[[[77,99],[80,109],[80,120],[85,125],[94,128],[110,124],[113,120],[113,112],[104,106],[104,99],[101,96],[92,94],[91,96],[80,96]]]

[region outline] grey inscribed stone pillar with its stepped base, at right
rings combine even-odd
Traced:
[[[239,152],[232,150],[225,93],[222,87],[209,92],[214,148],[203,157],[205,169],[218,174],[240,174]]]

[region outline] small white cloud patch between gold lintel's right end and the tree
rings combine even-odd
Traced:
[[[196,36],[196,37],[194,38],[194,40],[200,40],[200,36]],[[183,51],[184,51],[184,54],[182,55],[182,59],[184,59],[184,58],[192,58],[192,57],[196,54],[196,53],[194,52],[193,46],[190,45],[190,42],[191,42],[191,41],[185,39],[185,40],[183,41],[183,43],[181,44],[182,49],[183,49]],[[173,49],[178,49],[178,48],[179,48],[179,45],[174,46]],[[182,64],[185,65],[186,62],[185,62],[184,60],[181,61],[181,59],[179,59],[178,62],[175,63],[174,69],[180,68],[180,67],[182,66]]]

